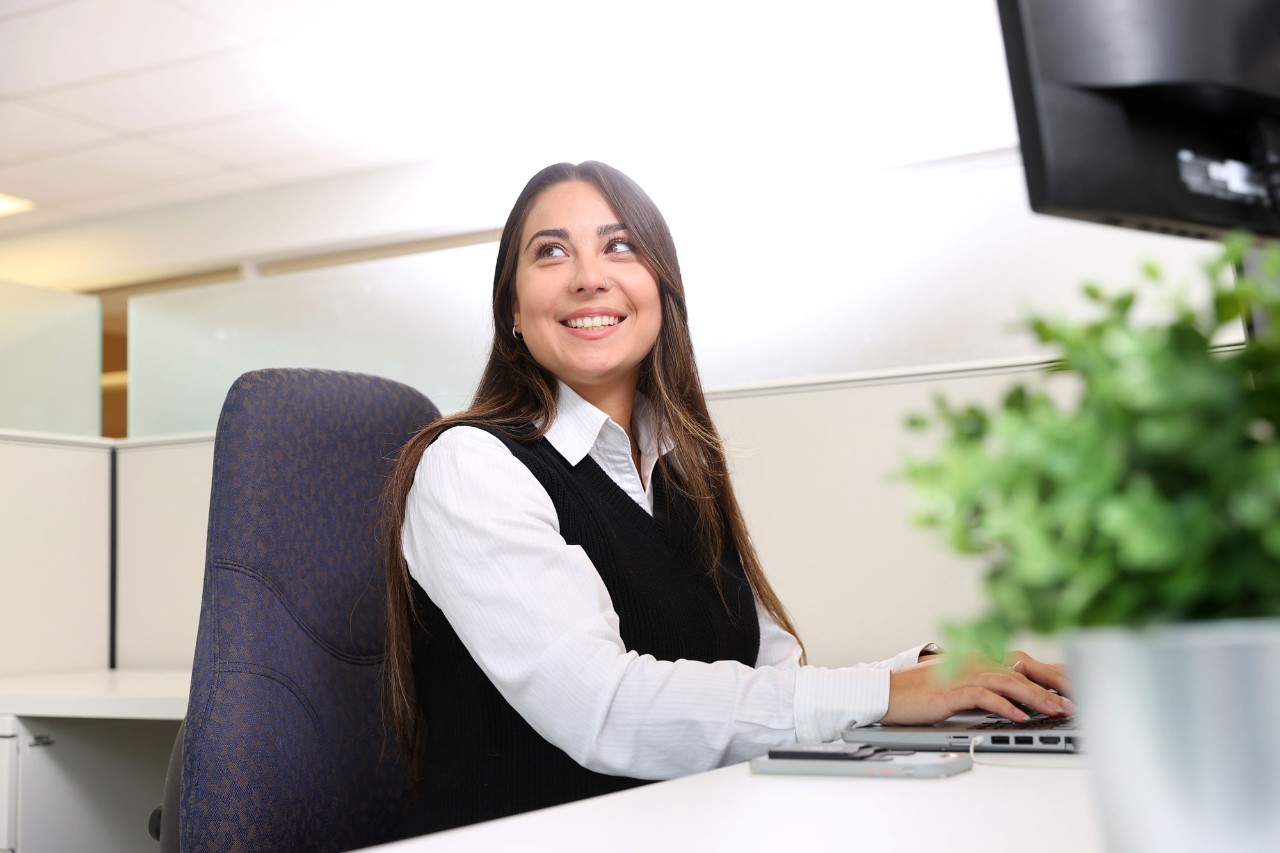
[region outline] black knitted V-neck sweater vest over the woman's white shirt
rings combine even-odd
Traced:
[[[547,489],[566,542],[591,558],[628,651],[664,661],[755,665],[760,631],[740,561],[722,561],[722,598],[692,544],[687,502],[663,488],[657,470],[650,516],[590,456],[573,466],[545,438],[524,443],[489,432]],[[426,751],[420,797],[403,835],[644,784],[586,770],[544,740],[507,704],[416,583],[413,596],[422,620],[413,633],[413,679]]]

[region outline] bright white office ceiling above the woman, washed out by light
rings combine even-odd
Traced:
[[[460,154],[699,181],[1015,138],[991,0],[0,0],[0,193],[37,205],[0,240]]]

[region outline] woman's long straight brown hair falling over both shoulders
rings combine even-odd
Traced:
[[[733,496],[724,448],[707,409],[694,362],[685,284],[667,222],[644,190],[612,167],[594,161],[547,167],[525,186],[502,229],[493,277],[493,346],[471,407],[443,418],[415,435],[401,451],[387,485],[383,701],[401,747],[415,757],[412,771],[416,771],[416,756],[426,733],[417,708],[411,660],[410,620],[416,619],[416,613],[401,542],[404,505],[422,452],[444,429],[458,423],[484,423],[520,441],[532,441],[540,438],[556,418],[556,377],[515,338],[511,323],[520,237],[529,211],[545,190],[566,181],[584,181],[600,191],[658,280],[662,329],[640,365],[639,391],[653,405],[659,439],[672,444],[671,453],[659,459],[658,465],[666,482],[687,497],[694,507],[698,540],[709,556],[709,565],[716,566],[716,583],[721,581],[719,557],[732,548],[741,558],[756,598],[782,628],[795,634],[791,619],[760,569]]]

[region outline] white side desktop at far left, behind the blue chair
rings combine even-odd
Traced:
[[[191,670],[90,670],[0,676],[0,713],[182,720]]]

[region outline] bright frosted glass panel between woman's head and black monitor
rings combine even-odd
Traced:
[[[1215,243],[1033,214],[1016,156],[820,165],[822,181],[735,191],[755,199],[698,184],[698,222],[672,218],[709,391],[1033,362],[1047,351],[1028,313],[1092,315],[1084,282],[1125,288],[1148,260],[1207,296]]]

